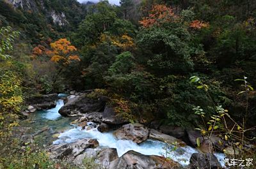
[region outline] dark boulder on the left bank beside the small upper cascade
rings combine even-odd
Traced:
[[[56,99],[58,99],[58,94],[45,94],[28,98],[26,103],[36,108],[36,110],[42,110],[56,107]]]

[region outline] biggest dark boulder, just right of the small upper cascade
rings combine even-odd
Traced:
[[[59,113],[63,116],[77,116],[90,112],[100,112],[104,110],[104,107],[104,100],[88,98],[87,94],[81,94],[68,99],[67,103],[59,110]]]

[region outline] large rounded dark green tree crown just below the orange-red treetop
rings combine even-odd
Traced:
[[[176,24],[168,27],[150,27],[140,31],[137,36],[138,47],[148,66],[157,74],[186,73],[193,70],[191,34]]]

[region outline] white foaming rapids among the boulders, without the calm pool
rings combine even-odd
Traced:
[[[61,115],[58,114],[58,110],[64,105],[63,100],[59,99],[56,103],[57,105],[55,108],[45,110],[47,113],[42,115],[43,118],[56,121],[61,117]],[[88,124],[92,124],[92,122],[88,122]],[[189,158],[191,155],[198,152],[196,149],[189,146],[175,148],[157,140],[147,140],[140,144],[134,143],[131,140],[117,140],[113,135],[113,131],[100,133],[97,128],[82,130],[81,127],[75,125],[72,126],[74,126],[74,128],[60,133],[58,140],[55,140],[53,144],[72,143],[81,138],[93,138],[98,140],[100,147],[116,148],[119,157],[125,154],[125,152],[132,150],[145,155],[167,156],[183,166],[189,165]],[[166,151],[166,149],[168,149],[168,151]],[[221,165],[224,166],[223,159],[225,158],[225,155],[216,153],[215,156],[219,159]]]

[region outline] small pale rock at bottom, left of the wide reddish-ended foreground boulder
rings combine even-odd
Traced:
[[[95,162],[99,163],[104,168],[108,168],[110,165],[110,162],[117,158],[118,158],[118,154],[116,149],[114,148],[102,149],[100,152],[98,152]]]

